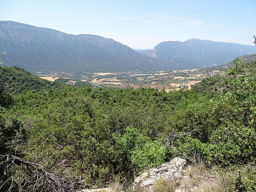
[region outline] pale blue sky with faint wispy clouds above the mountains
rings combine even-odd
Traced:
[[[206,39],[245,45],[256,35],[255,0],[1,0],[0,20],[112,38],[131,48]]]

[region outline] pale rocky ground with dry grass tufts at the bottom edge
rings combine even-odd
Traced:
[[[163,183],[161,181],[165,180]],[[156,188],[157,183],[158,188]],[[169,185],[171,183],[171,185]],[[160,186],[160,188],[159,188]],[[204,192],[205,189],[218,188],[218,177],[212,175],[208,170],[205,169],[204,164],[194,164],[189,166],[185,159],[176,157],[168,163],[164,163],[158,167],[151,168],[143,172],[137,177],[133,184],[133,191],[163,191],[168,189],[173,192]],[[83,189],[77,192],[124,192],[131,191],[131,188],[115,188],[110,186],[109,188],[101,189]]]

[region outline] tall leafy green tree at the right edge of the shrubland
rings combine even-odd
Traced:
[[[236,58],[230,92],[214,102],[214,112],[221,114],[221,124],[210,143],[214,159],[222,164],[255,163],[256,160],[256,75],[244,76],[243,62]]]

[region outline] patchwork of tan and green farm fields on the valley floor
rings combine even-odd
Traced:
[[[130,73],[87,73],[81,81],[87,81],[94,86],[116,87],[135,89],[151,87],[166,92],[170,90],[191,89],[191,86],[203,79],[219,74],[226,70],[227,66],[215,66],[210,68],[183,69],[171,71],[151,71],[147,74]]]

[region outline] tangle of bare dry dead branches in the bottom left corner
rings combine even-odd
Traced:
[[[49,166],[43,167],[9,154],[0,154],[0,165],[4,166],[0,181],[1,191],[68,192],[75,189],[72,177],[67,176],[67,172],[58,172],[54,166],[46,171]],[[8,176],[8,169],[13,173],[11,176]]]

